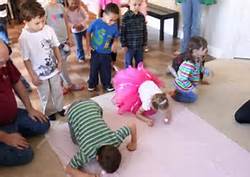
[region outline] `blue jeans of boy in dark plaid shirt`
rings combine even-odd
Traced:
[[[125,53],[125,67],[133,66],[133,58],[135,58],[135,67],[143,61],[143,47],[141,49],[131,49]]]

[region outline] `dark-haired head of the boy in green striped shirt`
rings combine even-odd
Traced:
[[[107,173],[114,173],[120,166],[121,153],[112,145],[105,145],[97,151],[98,162]]]

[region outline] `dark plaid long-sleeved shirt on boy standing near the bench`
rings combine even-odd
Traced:
[[[147,45],[147,27],[145,17],[141,12],[135,14],[128,10],[121,24],[122,47],[141,49]]]

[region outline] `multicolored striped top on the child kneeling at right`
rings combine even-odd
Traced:
[[[182,92],[190,92],[200,81],[201,65],[184,61],[177,72],[178,77],[175,79],[176,89]]]

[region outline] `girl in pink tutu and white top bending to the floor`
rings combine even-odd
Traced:
[[[145,70],[142,63],[137,69],[129,67],[118,71],[113,83],[116,92],[113,101],[119,113],[132,112],[148,126],[154,124],[149,115],[158,110],[165,111],[164,122],[171,119],[167,96],[159,88],[161,81]]]

